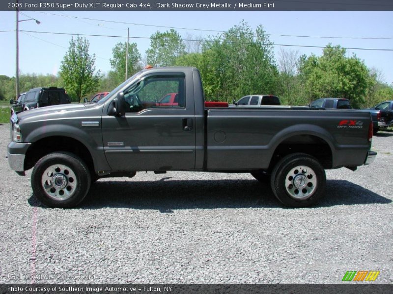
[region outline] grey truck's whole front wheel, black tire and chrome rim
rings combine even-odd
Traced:
[[[69,152],[54,152],[42,157],[31,173],[34,195],[50,207],[75,207],[86,196],[90,182],[90,172],[84,161]]]

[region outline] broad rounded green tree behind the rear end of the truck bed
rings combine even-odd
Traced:
[[[355,54],[345,55],[345,49],[328,44],[322,56],[300,57],[300,78],[309,101],[337,97],[350,99],[354,107],[364,104],[369,71]]]

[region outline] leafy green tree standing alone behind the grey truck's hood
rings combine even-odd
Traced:
[[[100,71],[95,72],[95,54],[90,55],[89,42],[85,38],[71,38],[68,52],[60,66],[60,75],[71,98],[79,101],[81,97],[93,92],[100,79]]]

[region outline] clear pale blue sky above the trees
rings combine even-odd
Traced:
[[[34,18],[41,24],[37,25],[31,20],[20,22],[19,30],[126,37],[129,28],[130,37],[142,37],[130,38],[130,43],[137,43],[142,58],[150,45],[148,37],[156,31],[169,30],[169,26],[186,28],[176,29],[183,38],[206,37],[218,34],[206,30],[227,31],[242,20],[246,21],[253,30],[258,25],[262,25],[266,33],[270,34],[270,41],[275,44],[324,47],[332,43],[347,48],[393,49],[393,11],[47,11],[45,13],[27,11],[23,13],[27,16],[20,14],[19,20]],[[15,14],[15,11],[0,11],[0,31],[15,30]],[[278,34],[329,38],[274,36]],[[20,72],[56,74],[67,52],[70,39],[70,35],[19,32]],[[114,45],[126,41],[126,38],[120,37],[89,36],[86,39],[90,43],[90,53],[96,54],[96,69],[102,73],[111,70],[109,59],[112,57]],[[15,76],[15,32],[0,32],[0,44],[0,75]],[[321,48],[275,46],[276,56],[280,48],[297,50],[299,55],[322,54]],[[347,56],[353,53],[364,60],[367,67],[379,70],[383,82],[393,83],[393,51],[347,49]]]

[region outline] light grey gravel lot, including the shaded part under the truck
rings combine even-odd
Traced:
[[[8,124],[0,138],[4,152]],[[50,209],[3,156],[1,282],[341,283],[379,270],[375,283],[392,283],[392,146],[393,132],[375,136],[374,163],[327,171],[325,198],[305,209],[249,174],[204,172],[102,179],[78,208]]]

